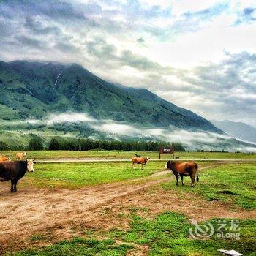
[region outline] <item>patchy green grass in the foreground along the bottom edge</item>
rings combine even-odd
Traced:
[[[236,249],[247,256],[254,256],[255,220],[240,222],[241,230],[236,238],[218,238],[216,234],[211,238],[196,240],[189,236],[189,227],[192,224],[183,214],[167,211],[152,219],[140,217],[137,214],[130,216],[129,230],[110,230],[109,232],[87,232],[89,235],[64,240],[57,244],[44,246],[39,249],[27,249],[16,252],[14,256],[67,256],[67,255],[127,255],[135,251],[136,246],[148,246],[146,255],[173,255],[173,256],[214,256],[221,255],[217,249]],[[211,225],[217,230],[217,221],[230,222],[230,219],[211,219]],[[204,224],[204,223],[202,223]],[[208,225],[208,223],[206,223]],[[228,233],[228,232],[227,232]],[[236,234],[236,233],[235,233]],[[104,237],[104,238],[99,238]],[[39,239],[42,236],[38,236]],[[10,255],[7,253],[7,255]],[[7,256],[6,255],[6,256]],[[132,254],[133,255],[133,254]]]

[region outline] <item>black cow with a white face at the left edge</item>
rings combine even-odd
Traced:
[[[17,182],[26,171],[34,172],[35,159],[18,162],[0,162],[0,181],[11,181],[11,192],[17,192]]]

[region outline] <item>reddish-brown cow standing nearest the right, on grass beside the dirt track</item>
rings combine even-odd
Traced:
[[[176,176],[176,185],[178,186],[178,176],[181,176],[182,186],[184,186],[183,177],[190,176],[191,178],[191,187],[194,187],[195,183],[195,174],[198,178],[198,165],[196,162],[173,162],[168,161],[165,165],[165,170],[170,169],[173,171],[173,174]]]

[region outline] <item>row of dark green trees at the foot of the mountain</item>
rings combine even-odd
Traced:
[[[175,151],[185,151],[181,143],[172,143]],[[170,147],[165,141],[136,141],[136,140],[91,140],[52,138],[48,146],[39,136],[29,140],[26,147],[8,146],[0,141],[0,150],[72,150],[86,151],[91,149],[122,150],[122,151],[158,151],[159,147]]]

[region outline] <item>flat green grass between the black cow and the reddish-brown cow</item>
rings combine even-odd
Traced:
[[[50,189],[78,189],[142,178],[163,170],[163,162],[148,162],[132,169],[128,162],[37,164],[34,173],[27,173],[20,181],[23,187]]]

